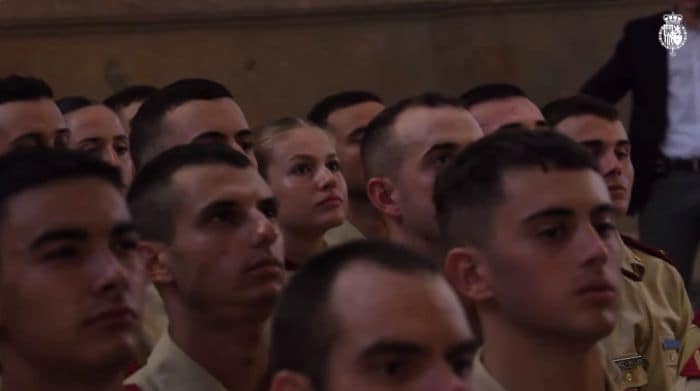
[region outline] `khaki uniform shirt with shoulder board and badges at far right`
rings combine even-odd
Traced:
[[[602,346],[624,390],[671,390],[692,321],[683,281],[668,262],[627,240],[620,319]]]

